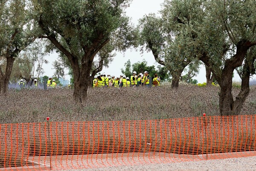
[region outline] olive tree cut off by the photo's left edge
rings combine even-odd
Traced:
[[[26,0],[0,1],[0,94],[6,93],[21,50],[35,41]]]

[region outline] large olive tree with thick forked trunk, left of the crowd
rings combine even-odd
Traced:
[[[49,39],[67,56],[74,75],[73,98],[87,99],[96,54],[113,32],[128,24],[129,0],[33,0],[41,38]]]

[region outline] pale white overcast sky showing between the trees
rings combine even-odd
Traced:
[[[130,7],[126,10],[126,14],[131,17],[132,23],[136,26],[138,24],[138,20],[143,17],[145,14],[149,13],[158,13],[161,9],[161,3],[164,0],[133,0]],[[158,65],[154,60],[154,56],[151,52],[140,54],[140,50],[138,49],[127,49],[127,51],[123,53],[116,53],[117,55],[113,58],[112,63],[109,65],[109,68],[103,68],[102,72],[110,75],[121,75],[121,68],[124,68],[124,64],[128,59],[130,59],[131,64],[134,64],[138,61],[143,61],[145,59],[148,62],[148,66]],[[56,53],[50,54],[47,58],[49,64],[44,64],[43,68],[45,73],[43,75],[52,76],[54,70],[52,69],[52,63],[58,57]],[[65,74],[68,73],[68,70],[65,70]],[[65,79],[70,80],[70,76],[66,75]],[[204,65],[201,66],[199,74],[193,79],[197,79],[198,83],[206,82],[205,77],[205,68]],[[237,74],[233,78],[236,81],[240,81],[240,78]]]

